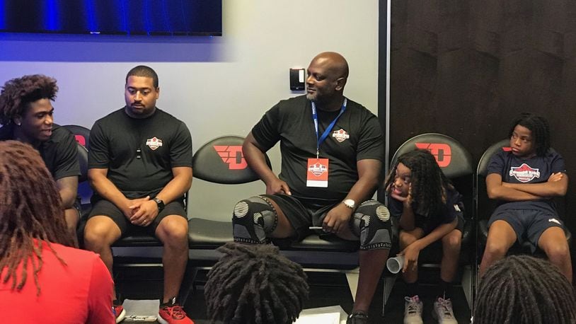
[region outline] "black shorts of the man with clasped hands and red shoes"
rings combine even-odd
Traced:
[[[93,216],[108,216],[114,221],[114,223],[120,228],[122,236],[127,236],[132,232],[144,232],[151,236],[156,236],[156,228],[160,224],[160,221],[168,215],[179,215],[188,219],[188,214],[184,209],[184,203],[180,201],[174,201],[166,204],[166,207],[158,213],[158,216],[152,221],[149,226],[137,226],[126,218],[124,213],[115,204],[109,202],[108,200],[102,199],[98,200],[92,207],[88,219]]]

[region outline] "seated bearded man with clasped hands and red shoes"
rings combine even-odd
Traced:
[[[176,296],[188,262],[184,195],[192,184],[192,137],[184,122],[156,108],[158,75],[136,66],[126,76],[124,108],[97,120],[90,132],[88,178],[93,208],[84,230],[88,250],[112,272],[110,245],[135,230],[163,243],[160,323],[192,324]],[[125,316],[114,302],[116,323]]]

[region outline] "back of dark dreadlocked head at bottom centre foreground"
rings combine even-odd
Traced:
[[[306,274],[274,245],[226,243],[208,273],[209,318],[225,324],[288,324],[308,299]]]

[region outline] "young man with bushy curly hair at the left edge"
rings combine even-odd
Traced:
[[[32,145],[56,181],[64,218],[76,238],[80,219],[78,191],[78,148],[74,135],[54,124],[56,80],[40,74],[22,76],[4,83],[0,94],[0,141],[16,139]],[[10,189],[10,188],[6,188]]]

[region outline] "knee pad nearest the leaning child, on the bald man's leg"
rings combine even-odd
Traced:
[[[352,217],[351,229],[360,238],[360,250],[392,247],[390,212],[384,204],[363,202]]]

